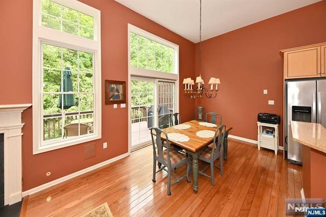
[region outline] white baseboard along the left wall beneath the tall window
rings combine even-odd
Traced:
[[[117,160],[119,160],[119,159],[122,159],[122,158],[124,158],[124,157],[126,157],[126,156],[129,156],[129,153],[125,153],[125,154],[119,155],[119,156],[117,156],[117,157],[114,157],[114,158],[112,158],[112,159],[105,160],[105,161],[103,161],[103,162],[100,162],[100,163],[97,164],[97,165],[93,165],[93,166],[91,166],[91,167],[88,167],[88,168],[85,168],[85,169],[83,169],[83,170],[79,170],[79,171],[77,171],[77,172],[75,172],[75,173],[69,174],[69,175],[67,175],[67,176],[61,177],[61,178],[59,178],[59,179],[56,179],[56,180],[53,180],[53,181],[47,182],[47,183],[45,183],[45,184],[42,184],[42,185],[40,185],[40,186],[34,187],[34,188],[29,189],[29,190],[27,190],[27,191],[25,191],[25,192],[22,192],[22,197],[25,197],[25,196],[27,196],[27,195],[35,194],[35,193],[37,193],[37,192],[39,192],[39,191],[42,191],[42,190],[44,190],[44,189],[46,189],[46,188],[48,188],[48,187],[51,187],[51,186],[53,186],[53,185],[59,184],[59,183],[64,182],[64,181],[67,181],[67,180],[69,180],[69,179],[71,179],[71,178],[77,177],[77,176],[79,176],[79,175],[82,175],[82,174],[84,174],[84,173],[90,172],[90,171],[95,170],[95,169],[97,169],[97,168],[103,167],[103,166],[108,165],[108,164],[110,164],[110,163],[112,163],[112,162],[114,162],[114,161],[117,161]]]

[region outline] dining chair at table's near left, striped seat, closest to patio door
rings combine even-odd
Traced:
[[[153,182],[156,182],[156,173],[164,170],[168,173],[168,195],[171,195],[171,185],[180,182],[182,179],[187,178],[187,182],[190,182],[189,173],[191,171],[190,159],[183,154],[170,149],[169,139],[167,133],[162,131],[157,127],[152,127],[151,129],[152,145],[153,145]],[[153,131],[156,132],[156,138],[154,139]],[[167,147],[163,149],[163,143],[161,135],[164,135],[167,141]],[[156,161],[159,162],[162,167],[156,171]],[[181,165],[187,165],[186,174],[182,177],[177,177],[172,173],[172,169],[175,169]],[[176,180],[171,183],[171,176]]]

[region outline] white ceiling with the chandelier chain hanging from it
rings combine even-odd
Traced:
[[[199,42],[199,0],[115,0]],[[322,0],[202,0],[202,41]]]

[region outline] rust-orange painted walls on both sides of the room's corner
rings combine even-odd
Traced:
[[[193,119],[195,104],[202,105],[207,112],[223,115],[223,122],[233,127],[230,134],[253,140],[257,140],[259,112],[282,114],[283,111],[283,62],[279,50],[326,41],[323,23],[326,1],[206,40],[202,75],[206,83],[214,75],[221,78],[222,84],[215,99],[194,101],[184,96],[182,78],[198,74],[198,44],[195,48],[194,43],[113,0],[80,1],[101,10],[102,139],[87,143],[95,144],[96,156],[89,159],[84,159],[86,144],[33,155],[33,108],[24,111],[23,191],[127,152],[127,133],[121,131],[127,130],[127,108],[104,105],[104,80],[128,78],[128,22],[180,46],[182,121]],[[32,2],[0,1],[0,104],[32,102]],[[268,95],[262,94],[263,89],[268,90]],[[275,100],[275,105],[267,105],[268,99]],[[108,148],[103,150],[105,141]],[[49,177],[45,175],[48,171]]]

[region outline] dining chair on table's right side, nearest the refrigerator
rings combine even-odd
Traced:
[[[214,140],[212,146],[208,146],[203,153],[199,156],[199,159],[208,162],[209,165],[207,165],[204,169],[199,171],[198,173],[200,175],[204,175],[211,179],[211,185],[214,186],[214,166],[217,168],[220,168],[221,176],[223,176],[223,154],[222,154],[222,147],[223,147],[223,141],[226,134],[226,127],[225,125],[219,126],[215,130],[214,134]],[[215,165],[214,161],[220,158],[220,166]],[[204,171],[210,166],[210,176]]]

